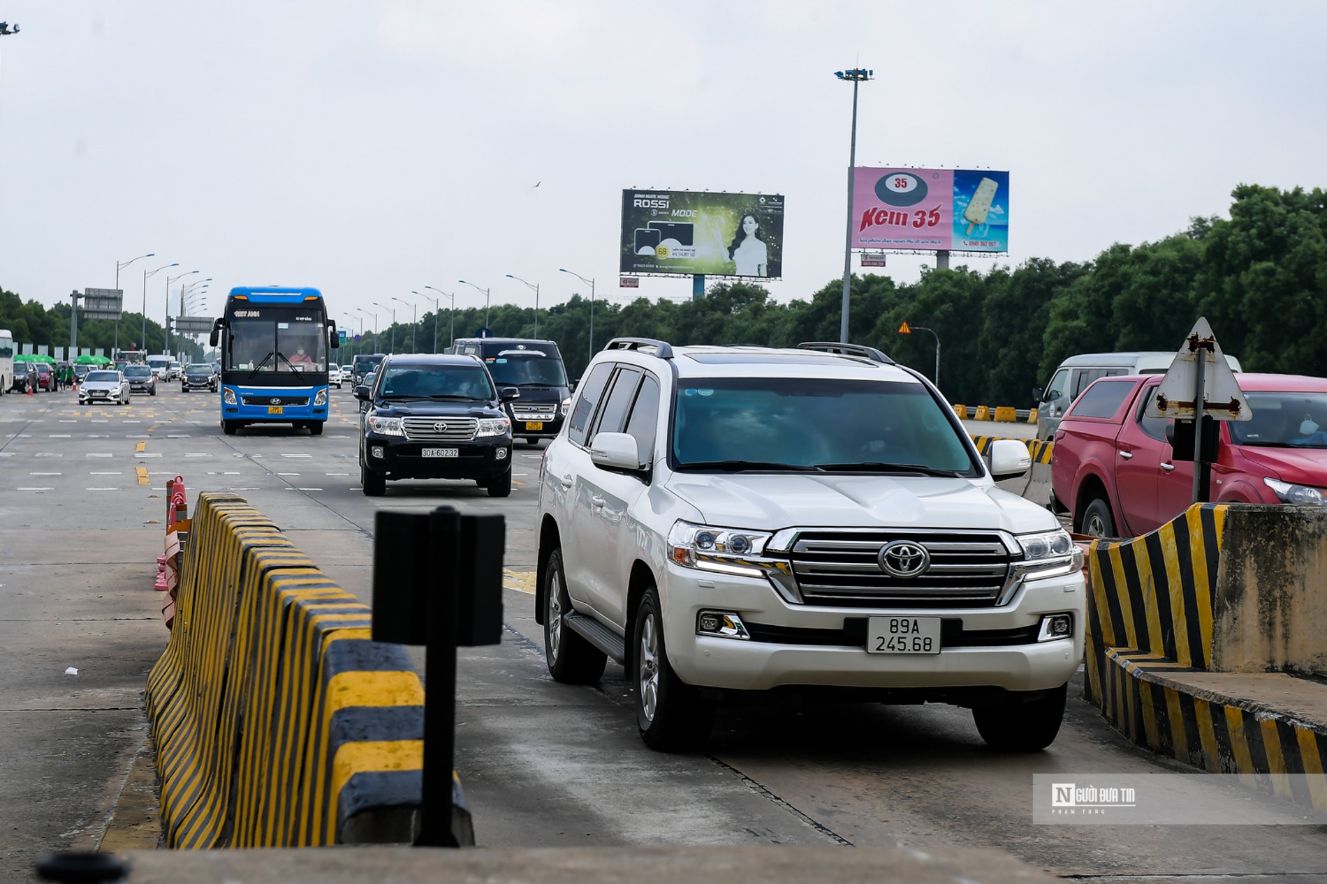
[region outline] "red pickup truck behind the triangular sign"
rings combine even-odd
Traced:
[[[1222,421],[1212,500],[1327,504],[1327,379],[1238,374],[1253,419]],[[1144,415],[1161,375],[1103,378],[1055,432],[1051,508],[1074,530],[1137,537],[1193,501],[1193,463],[1173,460],[1165,419]]]

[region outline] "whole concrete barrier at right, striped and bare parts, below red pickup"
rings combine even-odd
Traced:
[[[1144,537],[1093,542],[1088,565],[1084,693],[1105,718],[1327,810],[1327,513],[1196,505]]]

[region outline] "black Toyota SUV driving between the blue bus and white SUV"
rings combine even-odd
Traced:
[[[511,494],[511,419],[520,398],[494,384],[474,357],[390,355],[373,386],[354,388],[368,404],[360,433],[360,485],[369,497],[389,478],[472,478],[490,497]]]

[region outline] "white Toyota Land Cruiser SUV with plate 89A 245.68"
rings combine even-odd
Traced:
[[[1044,749],[1083,659],[1082,554],[995,486],[1024,445],[990,460],[869,347],[614,339],[540,469],[548,669],[621,663],[656,749],[771,688],[970,706],[989,745]]]

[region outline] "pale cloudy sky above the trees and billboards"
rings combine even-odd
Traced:
[[[214,309],[265,284],[337,315],[425,285],[482,305],[462,278],[532,305],[507,273],[547,306],[587,289],[559,268],[600,298],[689,297],[618,288],[632,187],[783,193],[770,289],[804,298],[843,273],[833,72],[857,64],[859,164],[1010,171],[1002,264],[1166,236],[1242,182],[1324,183],[1307,0],[0,0],[0,20],[21,28],[0,37],[0,286],[45,304],[145,252],[121,274],[135,310],[171,261],[212,277]]]

